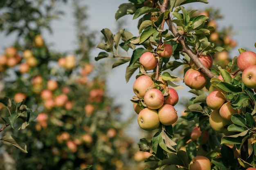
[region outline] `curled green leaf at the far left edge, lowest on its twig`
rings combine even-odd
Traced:
[[[27,145],[23,143],[18,137],[13,135],[5,135],[0,139],[0,141],[8,142],[19,148],[22,152],[27,153]]]

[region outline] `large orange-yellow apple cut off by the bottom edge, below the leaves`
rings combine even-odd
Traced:
[[[211,170],[211,161],[204,156],[193,157],[189,170]]]

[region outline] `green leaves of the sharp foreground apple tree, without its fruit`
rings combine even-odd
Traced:
[[[241,114],[232,115],[232,124],[227,127],[228,133],[218,134],[209,124],[209,115],[212,110],[206,104],[207,92],[204,90],[191,90],[196,95],[189,100],[186,108],[186,116],[180,117],[180,122],[175,126],[162,126],[159,128],[151,141],[141,139],[139,147],[141,150],[152,152],[153,156],[146,161],[155,162],[156,169],[188,169],[189,163],[193,157],[204,155],[213,163],[213,169],[245,169],[255,166],[255,93],[252,89],[245,87],[241,81],[241,73],[237,70],[236,59],[227,60],[226,64],[220,63],[215,55],[225,49],[231,49],[234,44],[225,44],[223,37],[227,31],[221,33],[221,37],[216,42],[211,42],[210,35],[217,32],[213,26],[208,26],[210,20],[205,15],[197,15],[197,10],[187,11],[182,5],[191,2],[204,2],[205,0],[175,0],[175,1],[155,1],[155,0],[129,0],[130,3],[121,4],[115,15],[116,20],[125,16],[133,15],[133,19],[140,17],[137,28],[139,35],[134,36],[124,29],[118,31],[115,35],[109,29],[103,29],[101,32],[105,37],[105,43],[100,43],[97,47],[106,52],[100,52],[95,60],[102,58],[119,58],[113,64],[113,68],[129,62],[126,68],[126,81],[128,82],[133,73],[140,68],[139,57],[145,51],[159,53],[163,43],[169,43],[173,46],[173,57],[160,58],[159,68],[153,73],[144,73],[139,69],[141,74],[158,74],[165,75],[168,85],[173,88],[181,88],[173,83],[173,71],[184,65],[184,72],[192,66],[189,65],[193,58],[191,53],[213,55],[214,64],[210,69],[211,77],[222,75],[224,81],[220,79],[208,79],[205,90],[220,89],[234,109],[240,109]],[[162,5],[164,4],[164,6]],[[167,5],[167,7],[166,7]],[[165,8],[166,10],[161,10]],[[218,14],[216,12],[215,14]],[[154,17],[154,18],[152,18]],[[213,18],[213,16],[211,16]],[[217,16],[217,18],[220,18]],[[164,29],[164,22],[168,25]],[[179,31],[182,31],[180,33]],[[122,40],[122,42],[120,42]],[[142,46],[142,47],[141,47]],[[127,53],[132,51],[132,56],[126,57],[119,55],[120,48]],[[242,50],[242,49],[241,49]],[[157,70],[159,69],[159,70]],[[168,71],[167,71],[168,70]],[[167,74],[171,71],[169,74]],[[166,76],[167,75],[167,76]],[[231,75],[236,75],[232,78]],[[208,76],[210,77],[210,76]],[[194,126],[201,128],[203,132],[209,133],[209,140],[189,141],[191,130]],[[228,145],[233,146],[230,148]],[[251,152],[248,150],[252,150]],[[186,152],[181,150],[185,147]],[[234,151],[238,149],[241,152],[240,157],[234,158]],[[249,155],[248,155],[249,153]],[[232,156],[233,155],[233,156]],[[183,167],[183,168],[178,168]]]

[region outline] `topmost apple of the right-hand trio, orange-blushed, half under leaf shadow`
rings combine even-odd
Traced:
[[[220,90],[215,90],[206,97],[206,104],[212,110],[218,110],[226,100],[227,97]]]

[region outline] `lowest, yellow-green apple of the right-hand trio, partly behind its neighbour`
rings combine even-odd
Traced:
[[[213,110],[209,117],[209,123],[214,131],[218,133],[224,133],[227,132],[226,126],[229,125],[231,122],[223,119],[220,116],[219,110]]]

